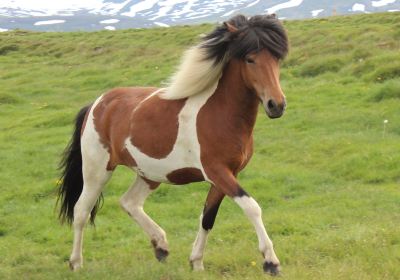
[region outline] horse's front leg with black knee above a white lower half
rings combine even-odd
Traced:
[[[192,254],[190,255],[190,263],[194,270],[204,269],[203,254],[206,247],[207,235],[214,226],[215,217],[224,196],[223,192],[219,191],[214,185],[211,185],[203,212],[200,215],[199,232],[193,243]]]

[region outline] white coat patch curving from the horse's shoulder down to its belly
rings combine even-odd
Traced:
[[[125,139],[125,147],[135,159],[136,170],[141,176],[156,182],[168,183],[167,175],[172,171],[193,167],[200,169],[204,178],[209,181],[200,160],[200,143],[197,137],[196,122],[201,107],[215,92],[219,78],[220,76],[206,91],[186,100],[178,116],[179,128],[174,147],[165,158],[152,158],[133,146],[129,137]]]

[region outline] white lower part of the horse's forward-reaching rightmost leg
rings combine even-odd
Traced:
[[[258,203],[252,197],[246,195],[235,197],[234,200],[243,209],[246,216],[254,225],[258,237],[259,250],[264,256],[265,263],[279,266],[279,260],[275,255],[272,241],[269,239],[267,231],[265,230],[261,218],[261,208]]]

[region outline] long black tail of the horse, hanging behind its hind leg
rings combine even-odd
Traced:
[[[74,206],[83,189],[82,154],[81,154],[81,130],[87,111],[91,105],[82,108],[75,120],[75,130],[70,143],[63,153],[60,163],[62,171],[59,180],[57,203],[61,201],[59,218],[61,222],[71,224],[74,220]],[[96,212],[99,208],[102,196],[96,202],[90,215],[90,223],[94,224]]]

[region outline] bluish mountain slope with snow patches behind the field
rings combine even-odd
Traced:
[[[398,0],[2,0],[0,28],[113,30],[216,22],[237,13],[277,13],[281,18],[300,19],[398,10]]]

